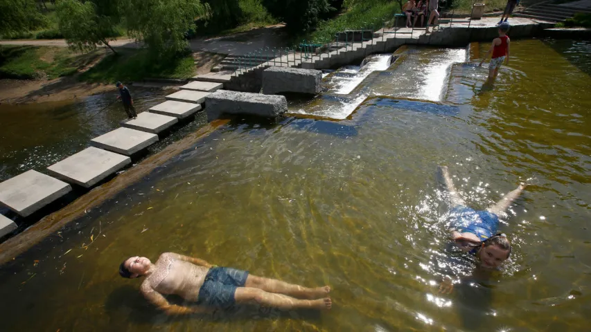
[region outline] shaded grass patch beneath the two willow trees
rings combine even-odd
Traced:
[[[173,59],[152,59],[148,50],[120,50],[119,55],[108,55],[80,75],[87,82],[112,83],[138,81],[145,78],[186,79],[195,75],[191,53]]]

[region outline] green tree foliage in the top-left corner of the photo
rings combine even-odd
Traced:
[[[35,0],[0,0],[0,35],[47,26]]]

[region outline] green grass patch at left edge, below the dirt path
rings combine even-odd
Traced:
[[[53,79],[73,75],[82,64],[82,55],[67,48],[0,46],[0,78]]]

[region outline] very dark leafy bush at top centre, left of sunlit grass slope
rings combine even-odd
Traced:
[[[263,0],[263,6],[274,17],[285,22],[294,33],[311,30],[321,17],[335,10],[331,0]],[[335,1],[342,3],[342,1]]]

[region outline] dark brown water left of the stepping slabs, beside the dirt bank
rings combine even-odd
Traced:
[[[161,89],[130,89],[139,112],[164,102],[168,94]],[[121,127],[119,122],[127,115],[121,102],[114,102],[117,94],[91,95],[73,103],[1,104],[0,181],[28,169],[42,172],[88,147],[92,138]],[[161,144],[150,149],[159,147]]]

